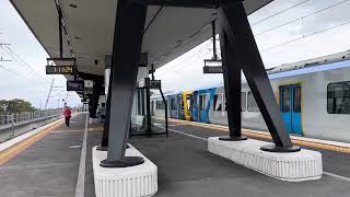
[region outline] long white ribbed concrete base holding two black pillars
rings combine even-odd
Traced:
[[[248,139],[221,141],[219,137],[208,139],[208,150],[248,169],[273,178],[288,182],[318,179],[323,174],[322,154],[302,149],[299,152],[276,153],[261,151],[269,142]]]

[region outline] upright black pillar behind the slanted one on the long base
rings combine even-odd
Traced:
[[[241,132],[241,66],[237,54],[230,45],[223,28],[220,31],[220,47],[230,136],[219,139],[226,141],[246,140],[247,138],[243,137]]]

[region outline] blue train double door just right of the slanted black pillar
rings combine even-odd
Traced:
[[[301,85],[280,86],[280,111],[290,134],[303,135],[301,126]]]

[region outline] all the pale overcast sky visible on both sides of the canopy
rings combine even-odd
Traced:
[[[299,3],[300,5],[289,9]],[[316,11],[318,12],[312,14]],[[252,14],[249,21],[266,68],[348,50],[349,12],[350,0],[275,0]],[[277,15],[264,20],[275,14]],[[298,20],[302,16],[304,18]],[[281,26],[291,21],[295,22]],[[275,28],[277,26],[281,27]],[[267,32],[270,28],[275,30]],[[324,30],[327,31],[322,32]],[[322,33],[313,35],[317,32]],[[36,107],[44,107],[52,80],[51,76],[45,76],[48,56],[9,0],[0,0],[0,43],[11,44],[9,47],[19,56],[12,57],[4,51],[9,48],[0,48],[0,58],[15,59],[0,62],[0,99],[22,97]],[[294,42],[288,43],[290,40]],[[163,80],[163,90],[192,90],[221,83],[221,74],[202,74],[203,59],[211,58],[211,43],[206,42],[159,69],[155,77]],[[34,71],[30,71],[28,66]],[[50,107],[57,107],[58,100],[62,106],[61,100],[67,95],[63,77],[55,76],[55,86],[61,88],[52,92]],[[80,99],[75,93],[70,93],[68,103],[78,105]]]

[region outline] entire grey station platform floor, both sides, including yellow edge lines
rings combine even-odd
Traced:
[[[86,120],[84,113],[74,115],[69,128],[58,120],[1,151],[0,196],[95,196],[91,157],[103,126]],[[155,126],[162,127],[159,123]],[[84,135],[86,147],[82,146]],[[304,148],[322,152],[325,174],[318,181],[290,183],[207,151],[208,137],[225,135],[213,125],[171,120],[168,138],[132,137],[129,142],[158,165],[156,196],[161,197],[350,196],[350,154],[345,151],[307,143]]]

